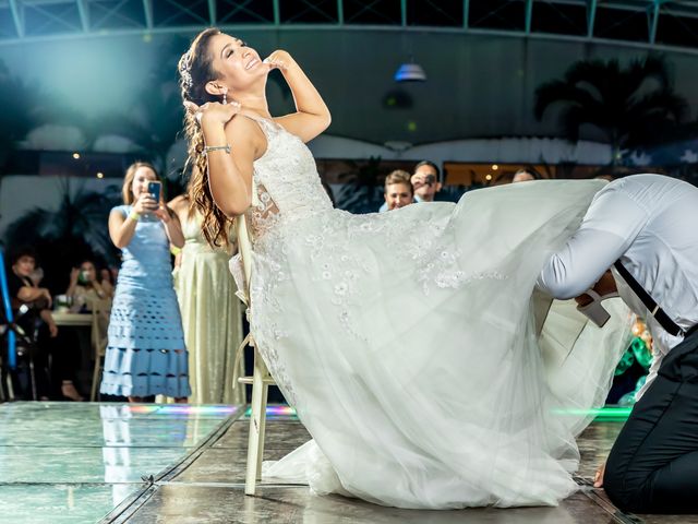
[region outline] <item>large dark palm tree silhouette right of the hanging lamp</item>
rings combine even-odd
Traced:
[[[589,60],[573,63],[563,80],[541,84],[535,90],[538,120],[553,105],[562,104],[559,127],[570,141],[580,128],[600,130],[618,163],[625,148],[642,148],[663,132],[682,122],[688,110],[686,99],[676,94],[666,61],[648,56],[622,68],[618,60]]]

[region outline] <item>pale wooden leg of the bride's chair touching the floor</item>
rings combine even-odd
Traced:
[[[248,466],[244,479],[245,495],[254,495],[256,483],[262,474],[262,458],[264,456],[264,431],[266,426],[266,400],[268,385],[265,378],[268,374],[266,365],[257,349],[254,348],[254,371],[252,374],[252,413],[250,415],[250,439],[248,442]]]

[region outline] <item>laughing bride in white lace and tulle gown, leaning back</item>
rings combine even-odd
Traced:
[[[269,115],[273,69],[291,115]],[[268,474],[400,508],[573,492],[575,436],[604,400],[624,330],[583,327],[564,305],[541,329],[534,283],[603,182],[352,215],[333,209],[304,145],[330,116],[288,52],[262,60],[209,28],[179,70],[192,201],[210,243],[246,214],[251,330],[313,437]]]

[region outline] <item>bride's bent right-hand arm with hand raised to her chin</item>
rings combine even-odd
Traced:
[[[303,142],[310,142],[329,127],[329,109],[313,83],[287,51],[274,51],[266,62],[281,71],[291,88],[297,109],[297,112],[274,120]]]

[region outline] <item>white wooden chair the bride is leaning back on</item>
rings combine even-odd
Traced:
[[[253,189],[253,194],[256,191]],[[244,289],[238,290],[238,297],[246,306],[248,320],[250,320],[250,278],[252,276],[252,243],[250,241],[250,233],[244,215],[236,218],[236,230],[238,234],[238,253],[242,261],[242,271],[244,273]],[[252,333],[245,336],[244,341],[238,348],[236,358],[236,369],[239,368],[238,359],[244,352],[246,346],[253,350],[253,372],[252,377],[240,377],[240,384],[252,384],[251,415],[250,415],[250,438],[248,440],[248,465],[244,479],[245,495],[255,495],[257,480],[262,474],[262,458],[264,456],[264,431],[266,425],[266,403],[269,385],[274,384],[274,379],[269,374],[264,360],[260,356],[260,352],[254,342]]]

